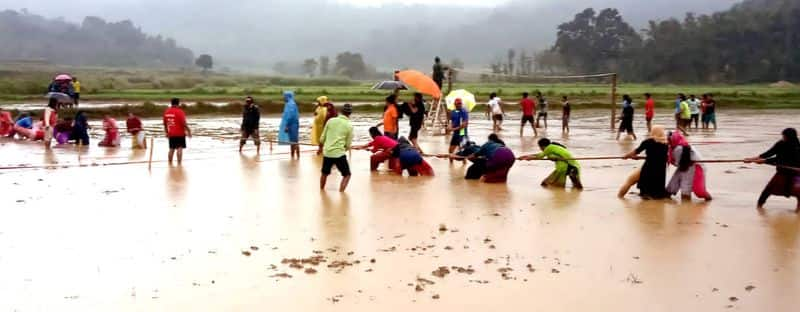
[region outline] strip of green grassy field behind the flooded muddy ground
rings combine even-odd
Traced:
[[[65,68],[56,66],[15,66],[0,64],[0,102],[31,103],[41,101],[50,79],[60,72],[80,78],[81,97],[84,101],[125,102],[140,105],[146,102],[166,102],[179,97],[189,102],[240,103],[251,95],[266,112],[281,110],[282,92],[296,93],[301,109],[310,109],[314,99],[326,95],[334,103],[345,102],[380,104],[387,91],[371,90],[377,81],[351,81],[342,78],[282,78],[240,74],[203,74],[198,71],[155,71],[142,69]],[[651,85],[625,83],[618,86],[617,101],[630,94],[634,101],[642,102],[643,94],[654,95],[659,106],[671,106],[677,93],[700,95],[713,93],[720,107],[735,108],[800,108],[800,87],[772,87],[769,84],[750,85]],[[473,92],[478,101],[486,101],[491,92],[497,92],[506,103],[515,103],[523,92],[541,91],[551,102],[562,95],[570,97],[577,109],[608,107],[611,102],[611,85],[603,82],[574,83],[479,83],[458,82],[455,89]],[[401,92],[401,100],[411,97],[411,92]],[[130,108],[124,108],[130,109]],[[202,105],[197,113],[234,113],[238,107],[219,108]],[[380,106],[367,109],[380,109]],[[145,106],[143,114],[155,113],[160,108]]]

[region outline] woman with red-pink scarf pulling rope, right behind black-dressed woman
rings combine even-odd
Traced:
[[[706,188],[706,168],[700,163],[700,153],[689,145],[686,138],[678,131],[669,135],[669,163],[677,167],[667,184],[667,194],[681,193],[683,200],[691,200],[692,193],[697,197],[711,200]]]

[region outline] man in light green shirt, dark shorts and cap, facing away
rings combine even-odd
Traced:
[[[323,156],[322,176],[319,179],[319,188],[321,190],[325,189],[325,184],[328,182],[328,176],[331,175],[331,169],[333,169],[334,165],[342,174],[339,192],[344,192],[350,182],[350,165],[347,163],[345,153],[353,143],[353,126],[350,124],[350,114],[352,113],[353,106],[345,104],[342,108],[342,113],[331,118],[322,130],[319,151],[317,151],[317,154],[322,154]]]

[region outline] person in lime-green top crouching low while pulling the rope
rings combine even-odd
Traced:
[[[539,148],[542,150],[541,153],[522,156],[519,159],[549,159],[556,163],[556,169],[553,170],[553,173],[542,181],[543,187],[555,186],[564,188],[567,185],[567,178],[569,178],[572,181],[573,188],[583,189],[580,175],[581,165],[573,159],[572,153],[564,145],[551,142],[549,139],[540,139]]]

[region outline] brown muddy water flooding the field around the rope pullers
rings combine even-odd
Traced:
[[[580,156],[634,148],[613,141],[604,113],[576,112],[571,135],[555,121],[547,134]],[[707,159],[751,156],[797,113],[725,112],[718,132],[690,140]],[[482,141],[489,123],[473,118]],[[356,118],[359,140],[375,120]],[[587,189],[577,192],[541,189],[547,162],[518,163],[507,185],[484,185],[464,181],[460,163],[435,159],[434,178],[371,174],[368,153],[353,152],[353,180],[339,194],[336,174],[326,192],[317,189],[313,152],[292,161],[286,147],[265,145],[260,157],[240,156],[235,119],[192,122],[204,130],[182,168],[163,162],[160,138],[151,171],[112,165],[146,159],[125,147],[45,153],[0,142],[4,166],[55,168],[0,171],[0,309],[794,311],[800,303],[795,203],[773,198],[766,213],[754,209],[768,167],[709,165],[710,203],[644,202],[615,197],[636,161],[583,162]],[[520,138],[508,122],[503,132],[518,154],[535,151],[526,131]],[[445,137],[422,144],[447,149]],[[315,255],[326,262],[281,263]],[[352,265],[328,267],[337,260]],[[451,272],[433,276],[441,266]]]

